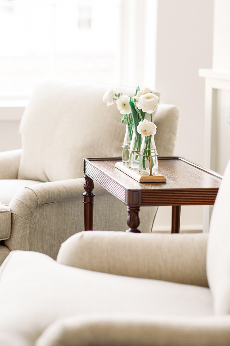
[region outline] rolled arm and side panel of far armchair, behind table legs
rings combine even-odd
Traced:
[[[84,230],[84,178],[40,183],[21,189],[9,203],[10,250],[38,251],[56,259],[61,244]],[[126,206],[95,184],[94,229],[127,229]],[[140,229],[150,232],[157,207],[140,209]]]

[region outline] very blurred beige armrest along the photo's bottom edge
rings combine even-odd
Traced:
[[[228,346],[230,316],[91,314],[57,319],[36,346]]]

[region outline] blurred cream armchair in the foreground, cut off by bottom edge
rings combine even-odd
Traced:
[[[88,231],[0,267],[4,346],[229,346],[230,162],[209,234]],[[207,244],[208,240],[208,244]]]

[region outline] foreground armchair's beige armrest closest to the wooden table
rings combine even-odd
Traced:
[[[57,262],[92,271],[208,286],[206,234],[87,231],[61,246]]]

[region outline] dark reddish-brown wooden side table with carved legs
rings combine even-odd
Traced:
[[[181,206],[214,204],[222,179],[183,157],[158,157],[158,171],[167,181],[138,183],[114,167],[117,161],[122,158],[84,158],[85,231],[93,229],[93,180],[126,204],[126,232],[140,233],[140,207],[172,206],[172,233],[180,233]]]

